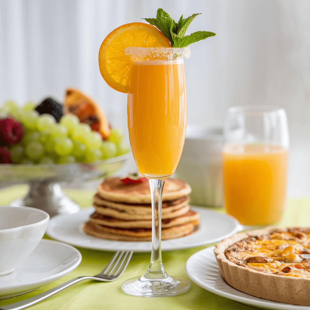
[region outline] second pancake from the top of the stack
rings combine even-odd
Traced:
[[[189,196],[162,203],[162,219],[171,219],[182,215],[189,210]],[[94,196],[96,211],[105,216],[124,220],[151,220],[151,204],[125,204],[101,199],[98,194]]]

